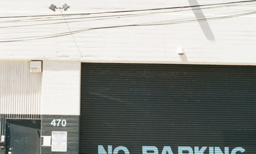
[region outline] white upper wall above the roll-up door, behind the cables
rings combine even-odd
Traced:
[[[200,5],[238,0],[197,0]],[[51,11],[51,4],[67,3],[71,9],[64,13],[93,13],[188,6],[188,0],[1,0],[0,16],[60,14]],[[255,9],[254,5],[203,9],[205,16]],[[130,12],[130,14],[137,12]],[[140,12],[138,12],[140,13]],[[118,13],[103,14],[116,15]],[[121,13],[119,13],[121,15]],[[129,13],[128,13],[129,14]],[[99,16],[87,15],[84,17]],[[227,14],[229,15],[229,14]],[[76,16],[81,17],[81,16]],[[195,17],[193,11],[171,12],[106,20],[69,23],[71,29],[129,25]],[[212,16],[216,17],[216,16]],[[31,18],[31,17],[29,17]],[[53,18],[53,19],[61,19]],[[68,17],[67,17],[68,18]],[[19,18],[0,18],[0,22]],[[22,18],[25,19],[25,18]],[[27,19],[27,18],[26,18]],[[75,19],[76,21],[78,19]],[[0,27],[59,22],[38,21],[1,23]],[[41,40],[0,43],[0,59],[79,60],[82,62],[140,62],[179,64],[256,65],[256,15],[208,21],[215,40],[207,40],[198,22],[164,26],[95,29],[74,34],[79,53],[71,35]],[[27,33],[32,31],[32,33]],[[36,31],[41,31],[35,33]],[[21,33],[22,32],[22,33]],[[26,33],[23,33],[26,32]],[[66,23],[30,27],[0,28],[0,39],[49,35],[68,32]],[[3,41],[3,40],[0,40]],[[176,51],[183,47],[185,55]]]

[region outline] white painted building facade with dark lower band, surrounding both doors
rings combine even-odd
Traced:
[[[49,9],[64,3],[71,7],[64,16]],[[255,66],[255,7],[238,0],[1,0],[0,134],[6,118],[39,119],[41,136],[67,131],[66,153],[78,153],[81,63]],[[29,72],[32,60],[42,61],[42,73]],[[68,129],[51,125],[69,118]]]

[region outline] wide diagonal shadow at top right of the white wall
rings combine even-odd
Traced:
[[[188,2],[190,4],[190,6],[199,6],[197,0],[188,0]],[[199,22],[199,25],[201,26],[201,29],[203,30],[205,37],[208,40],[214,41],[215,37],[213,35],[213,32],[212,32],[207,20],[202,20],[202,19],[205,19],[203,11],[200,9],[200,7],[193,7],[192,9],[193,9],[193,12]]]

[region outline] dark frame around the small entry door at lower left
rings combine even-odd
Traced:
[[[6,132],[7,132],[7,123],[10,123],[10,122],[17,122],[17,123],[31,123],[31,122],[36,122],[37,125],[39,125],[40,127],[40,137],[39,137],[39,144],[37,145],[37,150],[39,152],[39,154],[41,153],[41,119],[13,119],[13,118],[5,118],[5,124],[4,124],[4,135],[5,135],[5,154],[8,154],[8,149],[7,149],[7,136],[6,136]]]

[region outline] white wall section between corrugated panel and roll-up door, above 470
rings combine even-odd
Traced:
[[[43,61],[42,114],[79,115],[80,62]]]

